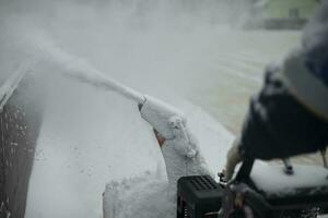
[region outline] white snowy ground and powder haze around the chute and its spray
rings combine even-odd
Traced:
[[[49,87],[26,218],[102,217],[107,182],[134,181],[144,171],[153,177],[164,166],[136,104],[57,76],[62,69],[49,64],[55,60],[45,41],[185,111],[215,172],[263,66],[300,37],[298,32],[231,29],[212,22],[213,8],[209,14],[181,12],[160,0],[155,7],[142,0],[13,2],[1,8],[1,70],[10,72],[26,57],[37,59],[32,71],[46,74],[40,81],[48,78]]]

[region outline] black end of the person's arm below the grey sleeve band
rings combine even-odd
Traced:
[[[267,72],[262,89],[250,100],[241,137],[244,156],[283,158],[328,145],[328,122],[301,105],[278,75]]]

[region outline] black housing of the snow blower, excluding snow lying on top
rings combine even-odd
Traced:
[[[328,213],[328,179],[324,186],[272,195],[258,189],[251,180],[254,161],[245,160],[235,178],[225,184],[210,175],[180,178],[177,218],[315,218]]]

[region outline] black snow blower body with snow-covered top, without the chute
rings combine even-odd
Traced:
[[[178,181],[177,218],[316,218],[328,214],[327,170],[245,160],[226,183],[204,175]]]

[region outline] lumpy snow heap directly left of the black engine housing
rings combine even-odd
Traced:
[[[104,218],[174,218],[176,203],[167,187],[164,178],[151,172],[110,182],[104,193]]]

